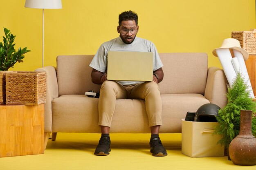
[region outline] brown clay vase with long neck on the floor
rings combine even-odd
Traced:
[[[229,144],[229,156],[236,165],[256,165],[256,138],[252,135],[252,110],[240,110],[240,131]]]

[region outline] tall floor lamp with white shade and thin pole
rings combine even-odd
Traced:
[[[42,66],[44,66],[45,9],[62,9],[61,0],[26,0],[25,7],[43,9]]]

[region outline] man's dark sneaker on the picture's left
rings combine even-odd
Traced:
[[[99,144],[95,149],[94,155],[106,156],[109,155],[110,149],[110,137],[101,136],[99,139]]]

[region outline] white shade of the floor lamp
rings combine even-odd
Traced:
[[[25,7],[38,9],[62,9],[61,0],[26,0]]]

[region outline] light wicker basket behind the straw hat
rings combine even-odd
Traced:
[[[239,40],[241,47],[249,55],[256,55],[256,31],[233,31],[231,38]]]

